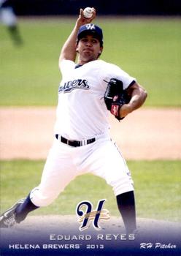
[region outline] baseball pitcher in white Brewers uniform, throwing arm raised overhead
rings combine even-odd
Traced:
[[[22,222],[29,212],[50,205],[76,176],[93,173],[112,187],[127,233],[136,230],[134,184],[126,161],[110,138],[108,116],[111,112],[118,120],[126,117],[145,102],[147,93],[120,67],[99,59],[103,34],[91,23],[95,17],[95,9],[88,19],[80,9],[61,50],[55,140],[41,182],[26,199],[1,215],[1,227]],[[123,87],[128,103],[118,102],[120,94],[110,99],[109,94],[117,91],[115,86]]]

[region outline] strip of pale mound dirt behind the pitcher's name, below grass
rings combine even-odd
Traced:
[[[100,220],[99,225],[101,229],[95,230],[90,221],[89,227],[81,233],[120,233],[125,234],[125,228],[121,217],[110,217],[109,220]],[[80,223],[74,215],[52,215],[52,216],[36,216],[28,217],[25,221],[11,229],[1,229],[1,236],[23,236],[23,238],[39,237],[43,234],[76,234],[79,231]],[[164,220],[155,219],[137,219],[136,236],[147,236],[154,234],[154,236],[176,236],[180,237],[181,223],[167,222]]]

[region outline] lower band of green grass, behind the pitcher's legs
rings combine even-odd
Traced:
[[[1,161],[1,212],[26,197],[39,184],[44,161]],[[181,221],[181,161],[128,161],[134,178],[138,217]],[[86,174],[74,179],[50,206],[33,215],[75,214],[77,203],[107,199],[105,208],[119,216],[112,188],[96,176]]]

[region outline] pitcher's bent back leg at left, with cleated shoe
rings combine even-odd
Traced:
[[[50,150],[42,173],[39,187],[31,190],[0,217],[0,227],[10,227],[21,222],[28,213],[42,206],[48,206],[77,175],[71,161],[71,148],[57,140]]]

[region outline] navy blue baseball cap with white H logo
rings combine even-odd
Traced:
[[[101,46],[103,45],[103,34],[99,26],[92,23],[82,25],[77,34],[77,42],[79,42],[85,34],[95,34],[96,38],[99,39]]]

